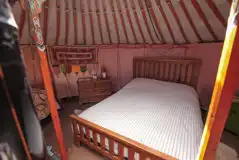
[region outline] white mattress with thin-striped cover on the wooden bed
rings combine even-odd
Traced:
[[[203,123],[192,87],[137,78],[79,117],[180,160],[194,160]]]

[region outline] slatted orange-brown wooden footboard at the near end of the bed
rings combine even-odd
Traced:
[[[76,115],[70,116],[74,143],[84,143],[112,160],[175,160],[127,137],[98,126]]]

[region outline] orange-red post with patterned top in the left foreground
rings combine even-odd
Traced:
[[[28,5],[31,11],[32,25],[33,25],[32,27],[34,29],[34,34],[36,38],[37,51],[40,56],[42,78],[44,81],[44,85],[45,85],[45,89],[46,89],[46,93],[47,93],[47,97],[49,101],[51,117],[52,117],[54,129],[56,132],[56,137],[60,147],[61,159],[67,160],[60,119],[57,112],[56,99],[53,92],[52,79],[50,75],[49,65],[47,62],[47,56],[45,53],[45,45],[43,44],[43,37],[42,37],[41,28],[40,28],[40,21],[39,21],[39,15],[38,15],[40,13],[40,9],[38,8],[38,1],[28,0]]]

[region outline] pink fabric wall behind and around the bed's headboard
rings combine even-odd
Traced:
[[[215,83],[222,43],[189,45],[120,45],[99,47],[99,65],[104,65],[112,78],[115,91],[133,77],[132,62],[135,56],[191,57],[202,60],[197,92],[202,107],[208,107]]]

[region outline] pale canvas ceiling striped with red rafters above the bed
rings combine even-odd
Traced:
[[[48,0],[42,32],[48,45],[184,44],[224,39],[230,0]],[[13,12],[21,44],[31,43],[28,13]]]

